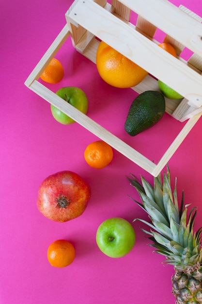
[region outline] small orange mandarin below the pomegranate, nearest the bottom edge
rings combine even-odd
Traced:
[[[47,259],[54,267],[66,267],[74,261],[74,258],[74,246],[64,239],[58,239],[48,247]]]

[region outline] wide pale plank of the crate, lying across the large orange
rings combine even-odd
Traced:
[[[202,76],[199,73],[91,0],[77,3],[70,16],[75,22],[80,22],[88,31],[172,87],[196,106],[202,105]],[[88,18],[86,18],[87,15]]]

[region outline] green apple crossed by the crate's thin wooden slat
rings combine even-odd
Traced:
[[[88,111],[88,99],[86,94],[80,88],[76,86],[65,86],[59,89],[56,94],[60,96],[63,100],[69,102],[75,108],[77,108],[82,113],[86,114]],[[62,124],[71,124],[75,120],[64,114],[62,111],[57,109],[54,105],[50,105],[51,113],[53,117]]]

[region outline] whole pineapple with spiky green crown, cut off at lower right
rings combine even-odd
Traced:
[[[163,183],[159,174],[154,177],[154,187],[142,176],[141,184],[132,174],[128,180],[138,191],[142,203],[133,201],[148,213],[150,219],[148,222],[135,220],[140,220],[151,228],[148,231],[142,229],[149,235],[148,238],[152,241],[150,245],[156,249],[156,253],[166,256],[164,263],[174,266],[175,273],[171,281],[176,304],[202,303],[202,227],[194,233],[196,208],[192,208],[187,216],[188,205],[184,204],[184,192],[179,208],[176,178],[172,193],[168,165]]]

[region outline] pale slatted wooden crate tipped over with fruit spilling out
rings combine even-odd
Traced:
[[[138,15],[136,25],[129,21],[132,11]],[[155,4],[151,0],[111,0],[111,4],[107,0],[76,0],[65,17],[67,24],[25,84],[141,168],[157,176],[202,115],[202,18],[168,0],[155,0]],[[175,22],[171,23],[171,20]],[[164,42],[175,47],[177,58],[157,46],[159,42],[154,39],[156,29],[166,33]],[[177,101],[166,98],[166,112],[187,122],[157,164],[38,82],[69,35],[75,49],[94,63],[100,39],[154,76],[148,75],[132,87],[136,92],[159,90],[156,79],[160,79],[185,97]],[[180,57],[185,47],[193,53],[188,61]]]

